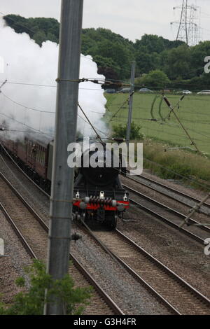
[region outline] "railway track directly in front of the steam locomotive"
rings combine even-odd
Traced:
[[[125,239],[127,239],[126,244],[124,241],[124,246],[122,246],[123,251],[120,249],[120,246],[116,244],[116,240],[117,240],[116,237],[113,239],[112,236],[110,241],[106,241],[106,239],[108,239],[108,237],[106,237],[108,233],[110,235],[113,234],[113,232],[97,232],[94,233],[94,235],[95,237],[97,235],[96,237],[97,240],[99,240],[100,242],[102,241],[103,248],[105,248],[106,251],[109,248],[109,253],[111,253],[115,259],[118,259],[118,262],[120,262],[123,266],[127,267],[127,270],[130,271],[132,275],[134,275],[136,278],[138,277],[141,283],[144,283],[144,285],[149,290],[151,290],[153,295],[158,297],[162,302],[164,302],[169,307],[169,309],[171,309],[173,314],[209,314],[209,300],[206,297],[204,297],[201,293],[199,293],[197,290],[191,287],[188,283],[186,283],[186,281],[183,281],[183,279],[181,279],[179,276],[174,274],[174,272],[172,272],[170,269],[167,269],[165,265],[162,265],[160,262],[158,262],[158,260],[155,260],[153,256],[143,255],[144,253],[142,253],[141,257],[139,256],[140,255],[139,253],[138,255],[137,254],[130,255],[130,250],[131,250],[130,248],[137,248],[137,247],[140,248],[140,247],[135,245],[133,241],[131,240],[129,241],[127,237],[125,237]],[[120,234],[121,233],[118,232],[118,237]],[[123,244],[123,240],[121,241],[121,244]],[[127,248],[127,244],[132,244],[132,246],[130,248]],[[118,251],[118,253],[120,253],[120,255],[114,254],[113,251],[116,250]],[[151,258],[150,265],[144,263],[142,260],[142,258],[147,258],[147,257]],[[139,268],[137,268],[137,265]],[[158,273],[157,269],[154,268],[156,266],[160,266],[160,268],[162,267],[162,270],[160,270],[160,272],[162,271],[162,274]],[[142,270],[142,268],[144,268],[144,270]],[[170,275],[172,276],[175,275],[173,284],[172,282],[169,283],[167,281],[168,280],[166,277],[168,276],[167,271],[171,272]],[[155,276],[159,278],[159,283],[160,282],[162,283],[159,286],[158,286],[158,282],[155,283],[154,281]],[[179,282],[177,283],[176,281]],[[157,286],[155,286],[156,284]],[[186,288],[182,288],[183,290],[178,290],[176,285],[178,285],[180,289],[182,286],[186,286]],[[164,287],[165,289],[162,291],[161,288]],[[177,293],[175,294],[177,297],[177,301],[176,300],[174,301],[173,296],[170,296],[170,291],[172,290],[175,292],[177,291]],[[184,304],[186,305],[184,308],[182,307],[183,301]],[[193,304],[195,304],[194,307],[192,307]]]

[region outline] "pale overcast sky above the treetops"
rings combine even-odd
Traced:
[[[189,0],[201,8],[202,37],[210,40],[210,0]],[[29,17],[57,18],[61,0],[1,0],[0,12]],[[83,27],[104,27],[135,41],[144,34],[176,38],[182,0],[84,0]]]

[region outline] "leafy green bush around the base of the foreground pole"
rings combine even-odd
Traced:
[[[0,303],[0,315],[42,315],[46,302],[62,302],[65,315],[82,314],[84,305],[91,296],[92,288],[74,288],[73,279],[66,274],[63,279],[52,280],[46,274],[45,265],[39,260],[25,270],[29,275],[30,288],[15,295],[12,305]],[[25,279],[20,277],[16,284],[26,287]],[[47,289],[47,293],[46,292]]]

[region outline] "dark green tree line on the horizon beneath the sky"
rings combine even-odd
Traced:
[[[7,25],[26,32],[41,46],[59,42],[59,22],[54,18],[24,18],[6,15]],[[210,89],[210,74],[204,73],[204,58],[210,56],[210,41],[189,47],[183,41],[144,34],[135,42],[110,29],[90,28],[82,32],[82,53],[92,55],[98,73],[107,79],[130,78],[131,62],[137,62],[136,84],[154,88]]]

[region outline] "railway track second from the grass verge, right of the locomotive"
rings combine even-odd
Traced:
[[[173,228],[176,228],[176,230],[183,232],[200,244],[204,245],[205,239],[210,237],[209,226],[201,225],[200,222],[190,218],[190,226],[181,228],[180,225],[186,218],[184,214],[181,214],[179,211],[167,207],[165,204],[153,200],[151,197],[140,193],[138,190],[130,188],[130,186],[123,185],[123,188],[129,191],[130,202],[132,204],[155,216],[155,218],[158,218],[161,221],[167,223]]]

